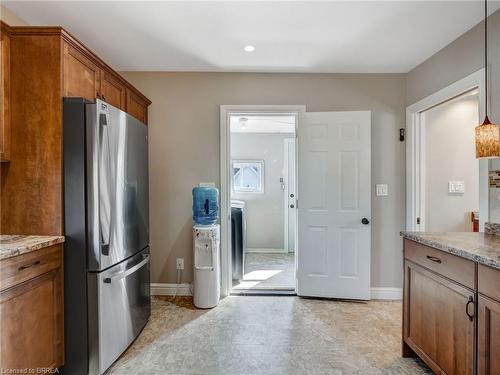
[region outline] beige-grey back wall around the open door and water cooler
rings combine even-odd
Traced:
[[[191,188],[219,185],[219,105],[302,104],[308,111],[372,111],[372,284],[400,287],[404,228],[403,74],[126,72],[149,110],[152,281],[175,283],[175,258],[191,281]],[[372,188],[373,190],[373,188]]]

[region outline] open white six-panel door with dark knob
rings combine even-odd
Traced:
[[[301,115],[298,295],[370,299],[370,119],[369,111]]]

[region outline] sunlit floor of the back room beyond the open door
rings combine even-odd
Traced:
[[[243,280],[233,281],[233,288],[295,289],[295,257],[293,253],[247,253]]]

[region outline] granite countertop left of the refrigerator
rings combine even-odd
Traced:
[[[0,235],[0,260],[64,242],[64,236]]]

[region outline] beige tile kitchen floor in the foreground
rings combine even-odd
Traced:
[[[231,296],[212,310],[153,299],[109,374],[430,374],[400,356],[401,303]]]

